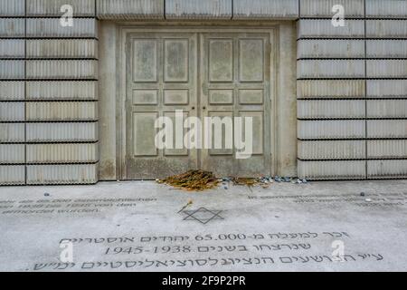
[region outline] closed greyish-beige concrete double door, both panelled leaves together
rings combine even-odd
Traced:
[[[270,174],[270,34],[129,34],[126,53],[126,179],[199,168],[219,177]],[[204,117],[218,118],[209,136],[203,132],[210,148],[175,148],[175,110],[200,117],[203,126]],[[156,149],[160,116],[173,121],[173,149]],[[234,117],[251,117],[249,159],[237,159]],[[247,133],[243,123],[242,140]]]

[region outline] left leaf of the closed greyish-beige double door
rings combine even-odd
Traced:
[[[196,169],[196,150],[157,150],[159,116],[196,116],[196,34],[130,34],[127,45],[127,179]],[[175,129],[174,129],[175,130]],[[174,138],[175,142],[175,138]]]

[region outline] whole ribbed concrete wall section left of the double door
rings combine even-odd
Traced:
[[[0,184],[97,182],[95,1],[0,0],[0,16]]]

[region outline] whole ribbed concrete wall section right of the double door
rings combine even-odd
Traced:
[[[299,13],[298,175],[406,178],[407,1],[301,0]]]

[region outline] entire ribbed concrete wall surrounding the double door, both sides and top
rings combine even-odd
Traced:
[[[97,19],[166,18],[298,20],[298,175],[407,177],[407,1],[0,0],[1,185],[98,181]]]

